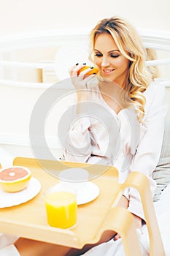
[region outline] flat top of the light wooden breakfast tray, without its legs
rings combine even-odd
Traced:
[[[120,185],[117,183],[118,173],[114,167],[50,160],[37,161],[24,157],[15,158],[13,165],[29,167],[32,176],[41,183],[42,189],[36,197],[26,203],[0,209],[0,232],[82,248],[85,244],[96,243],[101,233],[106,230],[107,226],[109,227],[107,217],[112,211],[113,204],[116,203],[115,199],[118,200],[120,197]],[[47,171],[43,170],[42,166]],[[44,195],[49,187],[58,184],[58,178],[55,177],[57,173],[67,167],[84,167],[90,170],[90,182],[99,187],[100,193],[92,202],[78,206],[76,227],[71,230],[62,230],[47,224]],[[99,175],[101,170],[105,171]],[[49,174],[48,171],[55,176]],[[93,178],[94,176],[97,178]]]

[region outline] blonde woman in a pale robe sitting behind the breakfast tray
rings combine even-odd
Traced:
[[[161,154],[166,112],[164,88],[152,79],[152,72],[145,65],[147,52],[126,20],[117,17],[101,20],[91,31],[90,39],[90,59],[98,73],[92,71],[93,67],[80,72],[85,64],[75,64],[69,70],[77,93],[77,107],[63,142],[63,156],[67,161],[114,165],[120,182],[134,170],[142,172],[148,177],[154,195],[156,184],[152,172]],[[89,71],[92,75],[87,75]],[[136,228],[141,229],[144,213],[136,190],[126,189],[119,205],[131,211]],[[104,243],[109,248],[110,243],[120,243],[119,238],[113,232],[104,233],[98,244],[109,241]],[[60,253],[58,246],[50,244],[23,238],[15,242],[15,248],[23,256],[30,255],[29,250],[31,255],[44,255],[43,249],[49,255],[55,252],[81,255],[93,246],[80,251],[63,247]],[[119,246],[114,248],[112,254],[101,249],[86,253],[123,255]],[[144,248],[143,255],[148,255]]]

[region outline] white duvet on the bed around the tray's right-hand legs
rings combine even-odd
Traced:
[[[158,218],[158,225],[161,231],[163,246],[166,256],[170,256],[170,184],[164,189],[160,200],[154,203],[155,212]],[[147,227],[142,227],[142,232],[138,230],[142,255],[150,256],[150,240],[147,233]],[[125,256],[123,243],[121,239],[109,241],[99,246],[93,247],[84,256]],[[161,255],[160,255],[161,256]]]

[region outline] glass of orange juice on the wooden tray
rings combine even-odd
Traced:
[[[50,192],[45,197],[47,222],[52,227],[69,228],[77,222],[76,195],[68,191]]]

